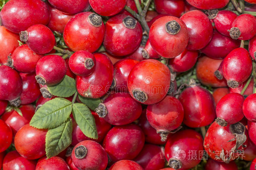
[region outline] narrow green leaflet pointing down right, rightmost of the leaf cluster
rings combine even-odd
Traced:
[[[84,135],[98,139],[94,117],[86,105],[82,103],[73,104],[73,117]]]

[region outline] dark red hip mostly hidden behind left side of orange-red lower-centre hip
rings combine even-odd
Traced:
[[[155,145],[164,145],[166,141],[161,141],[160,134],[152,127],[146,117],[146,110],[143,110],[138,125],[142,129],[145,134],[145,141],[147,143],[155,144]]]

